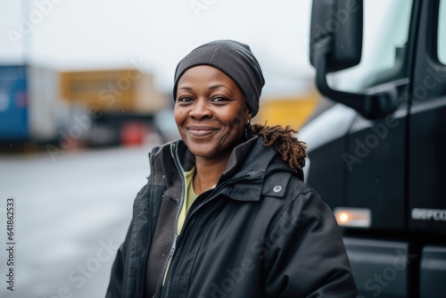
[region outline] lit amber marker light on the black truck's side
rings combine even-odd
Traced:
[[[369,228],[372,224],[372,213],[367,208],[338,207],[334,211],[339,226]]]

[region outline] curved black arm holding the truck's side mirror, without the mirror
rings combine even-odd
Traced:
[[[329,38],[329,37],[326,37]],[[396,110],[395,95],[380,92],[374,95],[362,95],[332,89],[326,82],[326,63],[330,52],[328,40],[317,42],[315,46],[316,85],[319,92],[338,103],[351,107],[367,119],[377,119]]]

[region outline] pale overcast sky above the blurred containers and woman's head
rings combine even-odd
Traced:
[[[179,60],[214,39],[252,48],[265,93],[311,84],[310,0],[2,0],[0,62],[56,70],[138,65],[169,90]]]

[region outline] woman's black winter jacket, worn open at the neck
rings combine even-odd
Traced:
[[[235,148],[178,237],[183,173],[194,156],[180,140],[153,149],[108,298],[155,290],[157,297],[356,297],[332,211],[262,142],[252,137]]]

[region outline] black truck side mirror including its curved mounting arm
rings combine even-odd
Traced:
[[[365,118],[377,119],[396,110],[396,93],[355,94],[334,90],[326,82],[328,72],[359,64],[362,29],[362,0],[313,0],[310,62],[316,68],[319,92],[351,107]]]

